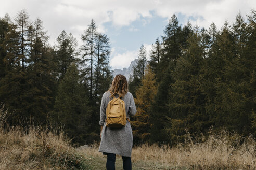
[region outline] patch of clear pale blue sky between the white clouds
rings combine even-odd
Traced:
[[[162,34],[166,24],[167,18],[154,16],[152,18],[140,17],[122,29],[115,29],[111,22],[103,25],[108,29],[107,34],[112,38],[112,45],[118,52],[122,52],[123,49],[134,50],[142,43],[152,43]]]

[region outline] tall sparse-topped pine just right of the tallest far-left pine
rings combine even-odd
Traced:
[[[52,55],[47,45],[48,36],[38,17],[33,22],[32,47],[29,52],[32,65],[26,69],[22,112],[34,116],[35,123],[46,123],[47,113],[53,108],[55,81],[52,76]],[[24,114],[25,115],[25,114]]]

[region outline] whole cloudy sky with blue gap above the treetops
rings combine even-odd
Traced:
[[[97,30],[110,39],[112,69],[129,67],[142,44],[148,56],[174,13],[182,27],[190,21],[208,29],[214,22],[221,29],[225,20],[232,25],[238,12],[246,19],[256,9],[255,0],[2,0],[0,4],[0,17],[8,13],[14,18],[22,9],[31,21],[39,17],[52,46],[62,30],[72,33],[81,46],[81,35],[93,19]]]

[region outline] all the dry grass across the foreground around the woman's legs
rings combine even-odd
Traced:
[[[7,110],[0,108],[0,169],[106,169],[99,143],[75,150],[63,131],[30,126],[9,127]],[[202,137],[203,138],[203,137]],[[222,130],[194,143],[189,133],[184,144],[134,146],[133,169],[256,169],[256,142]],[[122,169],[117,155],[116,169]]]

